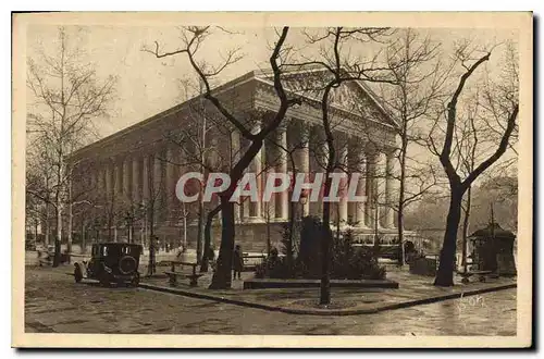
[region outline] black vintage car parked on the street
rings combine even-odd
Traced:
[[[75,282],[91,278],[100,282],[102,286],[110,283],[139,284],[139,256],[140,245],[127,243],[101,243],[92,245],[91,258],[88,262],[74,263]]]

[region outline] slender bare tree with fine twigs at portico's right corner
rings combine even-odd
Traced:
[[[395,153],[398,160],[398,195],[396,205],[386,203],[397,215],[400,264],[404,264],[404,213],[435,184],[432,166],[418,163],[411,158],[410,146],[421,136],[423,121],[433,102],[440,99],[452,66],[440,60],[440,44],[418,30],[407,28],[398,32],[399,37],[386,48],[386,63],[391,69],[393,83],[381,85],[381,99],[397,121],[395,126],[400,143]],[[369,137],[370,141],[374,139]],[[431,170],[431,171],[429,171]],[[395,174],[396,176],[396,174]]]

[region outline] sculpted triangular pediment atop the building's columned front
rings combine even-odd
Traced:
[[[265,82],[273,83],[271,73],[262,73],[256,76]],[[284,86],[297,95],[320,101],[325,84],[332,78],[332,74],[322,69],[307,69],[287,72],[283,74]],[[387,112],[380,99],[362,82],[346,82],[334,88],[330,95],[331,104],[348,111],[364,119],[384,122],[395,125],[395,120]]]

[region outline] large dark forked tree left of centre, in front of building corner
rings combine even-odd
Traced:
[[[238,181],[244,175],[244,171],[249,166],[252,159],[261,150],[264,144],[264,138],[267,138],[268,135],[270,135],[275,128],[280,126],[285,117],[287,110],[290,107],[300,104],[299,99],[289,98],[287,96],[287,92],[285,91],[282,84],[282,70],[280,69],[279,64],[282,47],[285,44],[288,30],[288,27],[283,27],[269,60],[273,72],[274,89],[276,96],[280,99],[280,107],[275,111],[270,111],[267,113],[265,117],[262,121],[262,127],[257,133],[254,133],[250,128],[248,128],[240,117],[238,117],[225,106],[223,106],[221,100],[213,94],[213,90],[210,86],[210,77],[218,75],[226,66],[239,60],[237,52],[235,50],[230,51],[222,65],[209,71],[202,70],[202,67],[196,60],[199,47],[201,46],[202,41],[205,41],[206,37],[210,35],[210,26],[185,27],[183,29],[184,44],[182,48],[177,50],[161,52],[158,42],[156,42],[156,47],[153,50],[146,49],[146,51],[153,53],[157,58],[185,54],[191,67],[205,84],[203,98],[210,101],[215,107],[215,109],[224,116],[224,119],[228,121],[239,132],[239,134],[249,141],[249,145],[247,146],[245,152],[240,156],[239,161],[230,171],[231,186],[226,190],[219,194],[222,219],[221,246],[218,258],[218,270],[213,273],[210,288],[221,289],[231,287],[232,253],[234,250],[235,242],[235,203],[231,202],[230,199],[235,190],[235,187]]]

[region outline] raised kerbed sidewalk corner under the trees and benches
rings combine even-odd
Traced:
[[[158,272],[162,271],[158,268]],[[517,286],[515,278],[495,278],[484,283],[471,282],[467,285],[458,284],[454,287],[442,288],[432,285],[433,277],[412,275],[407,271],[392,269],[387,272],[387,278],[398,282],[398,289],[332,288],[332,302],[327,308],[324,308],[318,305],[319,288],[244,290],[243,281],[252,277],[254,273],[247,272],[242,275],[243,278],[234,281],[232,288],[226,290],[208,289],[211,273],[200,277],[198,287],[189,287],[187,281],[180,281],[176,287],[171,287],[164,277],[143,277],[140,286],[151,290],[245,307],[317,315],[376,313]],[[460,283],[460,278],[456,282]]]

